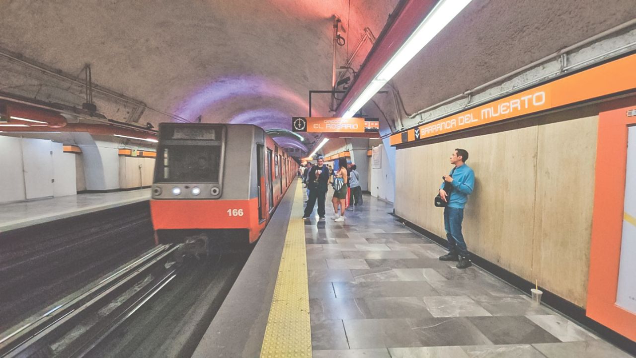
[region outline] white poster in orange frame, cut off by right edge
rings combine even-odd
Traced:
[[[621,261],[616,304],[636,314],[636,127],[629,128]]]

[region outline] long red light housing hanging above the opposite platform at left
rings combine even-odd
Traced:
[[[0,127],[2,132],[85,132],[97,136],[122,136],[156,142],[157,135],[149,131],[116,127],[109,124],[69,123],[64,127]]]

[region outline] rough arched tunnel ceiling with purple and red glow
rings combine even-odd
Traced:
[[[331,85],[331,16],[343,19],[340,31],[348,39],[338,48],[340,66],[364,27],[380,34],[398,1],[5,0],[0,47],[67,73],[79,74],[90,63],[99,85],[189,121],[202,115],[203,122],[290,129],[291,116],[307,114],[308,90]],[[636,18],[634,4],[473,0],[393,83],[406,111],[421,110]],[[366,43],[355,69],[369,50]],[[36,75],[22,83],[5,76],[11,71],[0,61],[0,91],[46,92]],[[64,85],[55,88],[63,91]],[[73,96],[67,102],[80,106],[83,90]],[[375,100],[381,109],[368,104],[364,110],[382,118],[382,132],[405,117],[392,96]],[[314,104],[314,115],[329,115],[328,96],[315,96]],[[98,108],[109,118],[130,111],[123,105]],[[142,123],[167,120],[173,119],[152,110],[141,117]],[[311,147],[314,138],[279,140],[298,148]]]

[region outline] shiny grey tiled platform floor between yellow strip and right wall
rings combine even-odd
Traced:
[[[331,196],[326,220],[305,221],[315,358],[630,357],[482,269],[439,261],[391,204],[365,195],[333,222]]]

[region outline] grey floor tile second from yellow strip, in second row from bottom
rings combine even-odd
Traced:
[[[344,320],[351,348],[419,347],[406,319]]]

